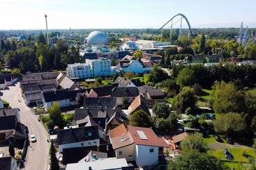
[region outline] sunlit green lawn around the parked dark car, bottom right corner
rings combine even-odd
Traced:
[[[229,169],[246,169],[248,166],[250,158],[255,158],[255,150],[253,148],[248,148],[246,146],[227,147],[229,152],[234,156],[234,160],[226,160],[223,150],[210,150],[209,154],[221,160],[225,167]]]

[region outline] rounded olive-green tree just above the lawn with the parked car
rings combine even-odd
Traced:
[[[242,133],[246,130],[246,124],[241,114],[229,112],[221,114],[220,117],[216,117],[213,121],[214,129],[216,133],[224,134],[229,137]]]

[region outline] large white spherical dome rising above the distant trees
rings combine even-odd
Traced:
[[[102,33],[100,31],[93,31],[87,37],[87,43],[89,45],[107,44],[107,36],[105,35],[105,33]]]

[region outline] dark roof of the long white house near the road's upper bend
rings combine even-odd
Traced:
[[[70,99],[71,101],[75,101],[77,93],[84,92],[85,90],[55,90],[50,92],[43,92],[43,97],[45,102],[51,101],[61,101],[65,99]]]

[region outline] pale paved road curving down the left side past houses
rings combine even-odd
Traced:
[[[42,124],[38,121],[33,112],[27,107],[20,96],[20,84],[10,86],[9,90],[1,90],[1,99],[8,101],[12,108],[20,109],[20,119],[22,124],[29,128],[29,135],[36,135],[37,142],[31,143],[25,162],[26,170],[48,169],[48,153],[50,145],[47,143],[48,134]],[[20,101],[19,101],[20,100]]]

